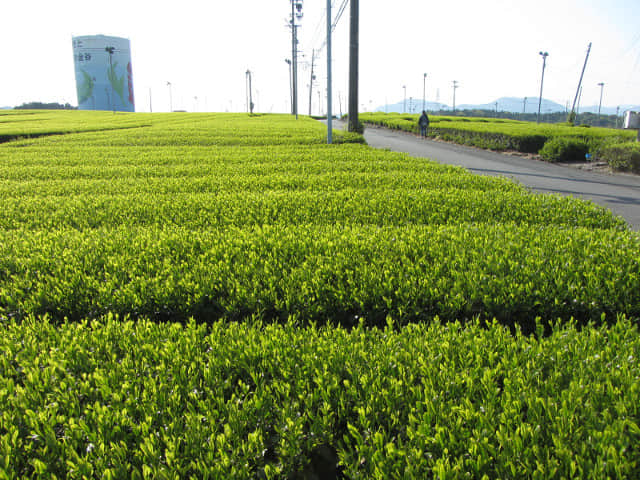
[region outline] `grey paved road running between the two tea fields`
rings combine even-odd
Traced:
[[[343,122],[336,123],[334,128],[343,128]],[[624,218],[634,230],[640,230],[640,176],[590,172],[462,145],[422,140],[384,128],[366,128],[364,137],[372,147],[462,166],[481,175],[508,177],[537,192],[591,200]]]

